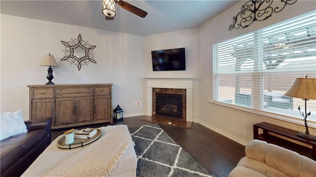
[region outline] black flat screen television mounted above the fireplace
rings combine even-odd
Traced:
[[[152,51],[153,71],[186,70],[185,48]]]

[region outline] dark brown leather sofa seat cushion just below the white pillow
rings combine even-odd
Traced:
[[[28,153],[30,150],[32,150],[32,148],[34,148],[41,140],[45,139],[46,137],[47,131],[45,129],[25,132],[2,140],[1,148],[17,144],[23,147],[24,153]]]

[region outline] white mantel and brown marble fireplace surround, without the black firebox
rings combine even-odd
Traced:
[[[193,80],[194,78],[146,78],[147,115],[152,116],[153,122],[167,123],[187,128],[191,127],[193,117]],[[183,110],[184,113],[186,113],[186,115],[183,117],[184,121],[177,118],[165,118],[153,115],[153,88],[155,92],[162,91],[165,93],[174,93],[179,89],[186,90],[186,99],[183,99],[186,101],[186,110]]]

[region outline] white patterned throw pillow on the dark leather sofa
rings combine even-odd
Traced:
[[[27,132],[21,110],[0,114],[0,140]]]

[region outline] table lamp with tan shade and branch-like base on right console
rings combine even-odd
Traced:
[[[307,113],[306,102],[309,99],[316,100],[316,78],[307,78],[307,75],[305,78],[296,78],[293,86],[284,95],[289,97],[302,98],[305,101],[305,114],[304,112],[301,112],[300,106],[298,106],[298,110],[304,118],[306,131],[305,133],[298,133],[297,135],[307,140],[316,141],[316,136],[311,135],[308,130],[306,120],[307,116],[311,115],[311,112]]]

